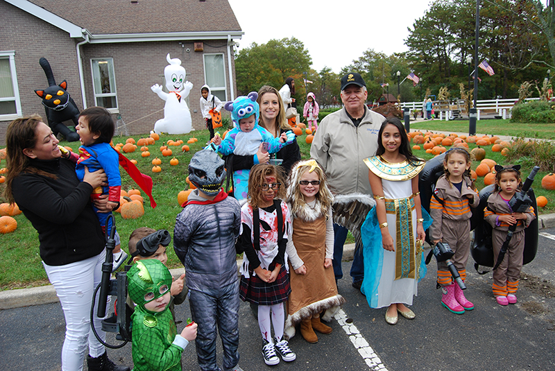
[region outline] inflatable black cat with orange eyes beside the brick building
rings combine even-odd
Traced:
[[[69,130],[64,124],[64,121],[71,120],[77,125],[79,117],[79,109],[66,90],[67,82],[63,80],[60,85],[56,85],[56,80],[54,80],[48,60],[40,58],[39,63],[40,67],[44,69],[49,87],[44,90],[35,90],[35,93],[42,98],[42,105],[45,107],[44,110],[46,111],[48,124],[54,135],[60,133],[68,141],[78,141],[79,135]]]

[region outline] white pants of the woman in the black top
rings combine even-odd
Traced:
[[[46,275],[56,288],[65,316],[65,340],[62,347],[62,371],[83,370],[83,360],[89,345],[90,356],[96,358],[104,354],[104,345],[92,333],[90,311],[92,294],[102,279],[102,263],[106,256],[103,250],[91,257],[65,266],[49,266],[42,262]],[[105,340],[106,333],[101,330],[102,318],[96,317],[98,295],[94,304],[94,328]],[[88,341],[87,341],[88,340]]]

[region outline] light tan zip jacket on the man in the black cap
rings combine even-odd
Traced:
[[[368,110],[357,127],[345,107],[328,114],[318,126],[310,157],[316,159],[327,176],[327,186],[334,195],[372,194],[368,167],[363,160],[376,154],[377,134],[385,117]]]

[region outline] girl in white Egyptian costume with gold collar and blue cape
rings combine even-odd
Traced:
[[[376,155],[364,159],[376,207],[362,226],[364,282],[361,291],[372,308],[388,307],[386,322],[395,325],[398,313],[413,319],[405,306],[418,295],[426,273],[422,241],[429,227],[420,207],[418,173],[424,161],[410,149],[399,119],[387,119],[379,129]]]

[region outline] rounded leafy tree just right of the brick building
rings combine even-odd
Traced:
[[[237,90],[246,95],[258,91],[263,85],[280,89],[289,76],[297,80],[296,87],[301,86],[302,73],[309,71],[311,64],[305,45],[295,37],[273,39],[266,44],[253,42],[237,53]]]

